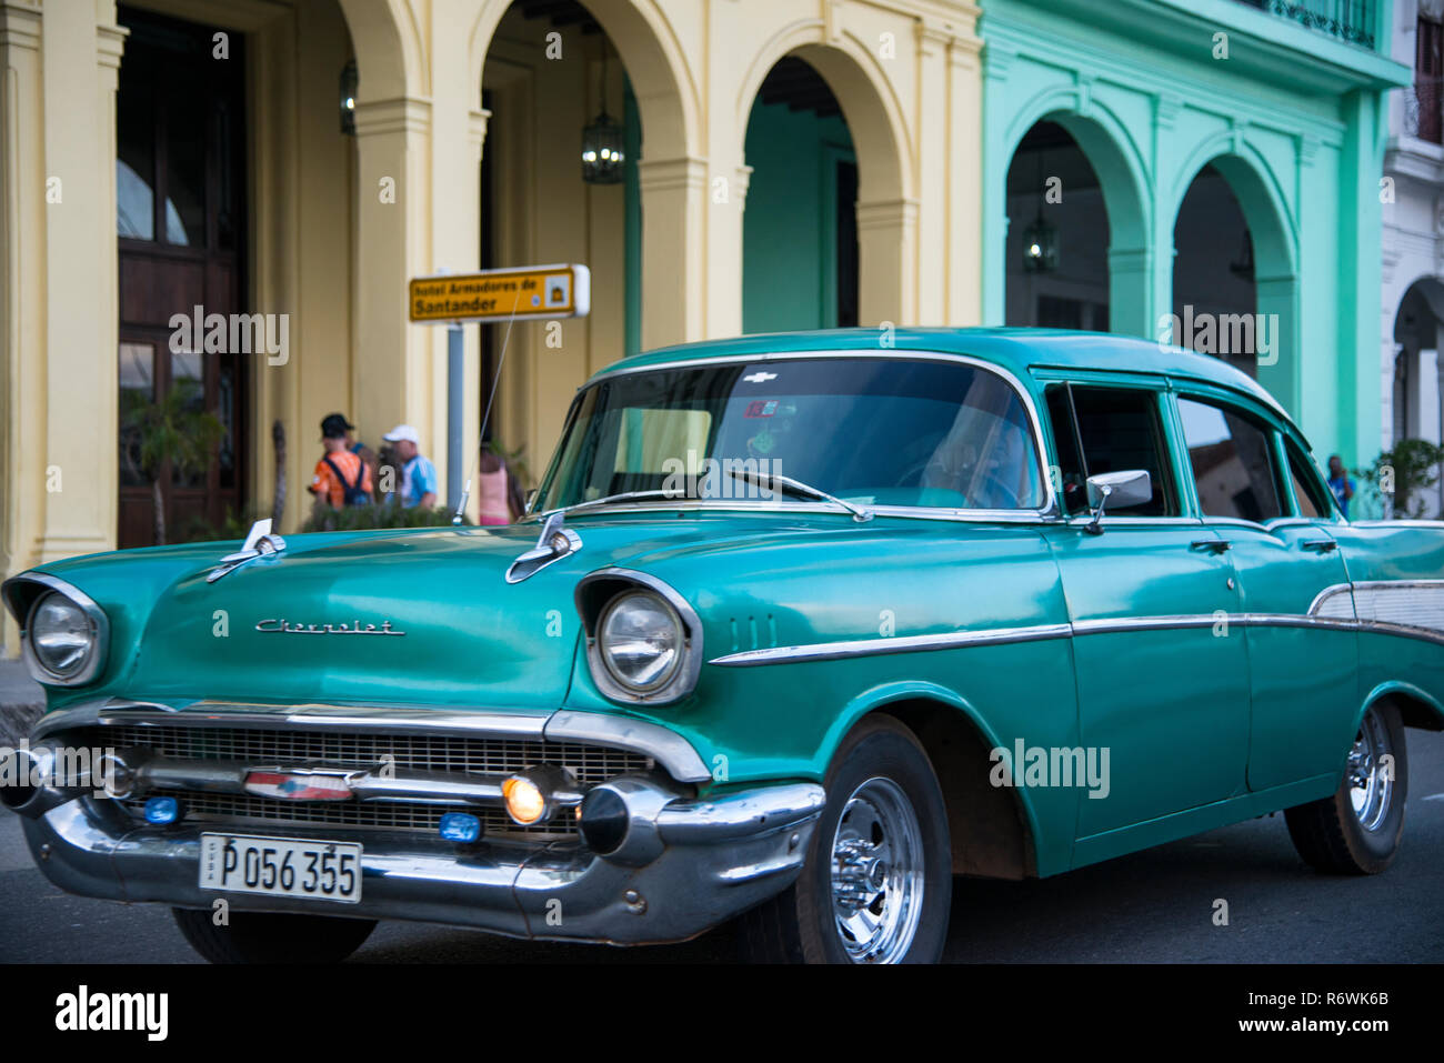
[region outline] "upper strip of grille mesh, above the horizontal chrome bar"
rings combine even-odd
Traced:
[[[539,764],[572,771],[583,787],[630,771],[647,771],[645,754],[576,742],[521,738],[469,738],[365,731],[267,729],[111,724],[87,729],[97,748],[142,747],[178,760],[240,760],[264,764],[326,764],[368,768],[387,763],[396,771],[471,771],[505,776]]]

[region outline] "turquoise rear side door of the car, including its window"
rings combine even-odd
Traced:
[[[1252,403],[1180,386],[1175,409],[1190,488],[1229,543],[1242,594],[1249,789],[1321,774],[1347,748],[1359,666],[1356,633],[1310,615],[1326,589],[1349,583],[1328,493],[1301,448]]]

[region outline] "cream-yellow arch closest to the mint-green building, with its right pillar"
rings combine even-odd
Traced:
[[[858,321],[917,316],[917,191],[907,120],[881,61],[855,35],[827,38],[822,20],[794,22],[752,58],[736,98],[736,156],[762,81],[784,56],[806,61],[832,90],[858,157]],[[738,263],[741,266],[741,263]]]

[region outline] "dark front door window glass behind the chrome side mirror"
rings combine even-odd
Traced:
[[[1128,469],[1148,472],[1154,497],[1142,506],[1110,507],[1110,516],[1178,516],[1157,391],[1056,384],[1048,389],[1047,400],[1058,448],[1063,506],[1070,516],[1089,510],[1089,477]]]

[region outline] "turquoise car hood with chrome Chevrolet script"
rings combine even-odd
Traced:
[[[534,523],[292,536],[283,553],[215,582],[205,578],[231,543],[46,570],[114,617],[111,650],[126,661],[107,693],[553,709],[567,693],[580,634],[573,591],[588,572],[653,570],[684,596],[715,601],[709,572],[726,570],[736,588],[758,566],[775,578],[810,565],[825,540],[908,537],[914,529],[902,524],[915,521],[864,529],[833,514],[589,514],[570,524],[580,550],[520,583],[507,583],[505,572],[534,544]]]

